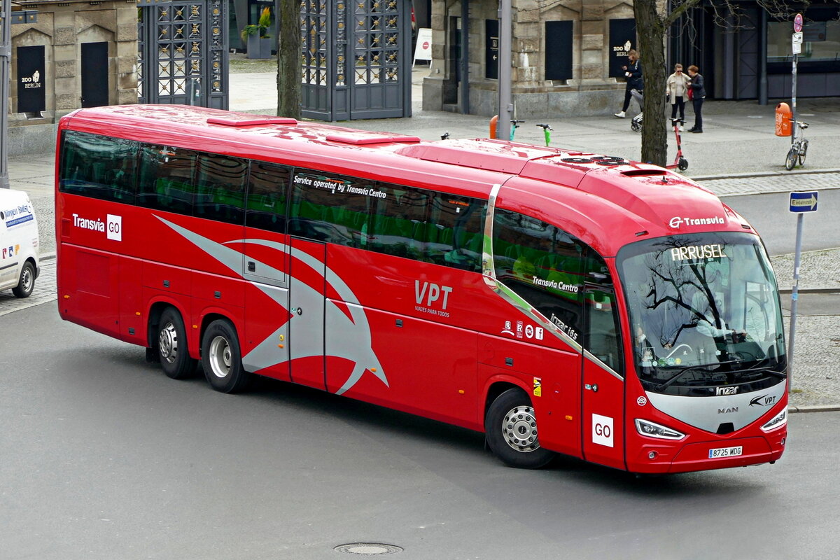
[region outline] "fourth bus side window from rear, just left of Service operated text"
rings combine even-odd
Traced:
[[[245,225],[286,233],[286,193],[289,169],[282,165],[255,161],[249,173]]]

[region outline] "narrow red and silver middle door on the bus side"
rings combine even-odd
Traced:
[[[327,249],[324,243],[291,238],[289,359],[291,380],[326,390],[324,305]]]

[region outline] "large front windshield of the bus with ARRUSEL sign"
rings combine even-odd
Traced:
[[[785,379],[778,290],[759,238],[697,233],[618,254],[645,390],[732,395]]]

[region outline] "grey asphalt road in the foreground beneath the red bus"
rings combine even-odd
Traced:
[[[4,560],[837,557],[840,413],[790,416],[775,465],[635,479],[506,468],[475,432],[265,380],[222,395],[142,348],[0,317]]]

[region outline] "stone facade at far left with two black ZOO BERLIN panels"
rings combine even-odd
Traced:
[[[12,139],[14,128],[55,124],[79,107],[137,102],[133,1],[34,0],[23,7],[37,9],[38,18],[12,27]],[[37,89],[42,104],[29,95]]]

